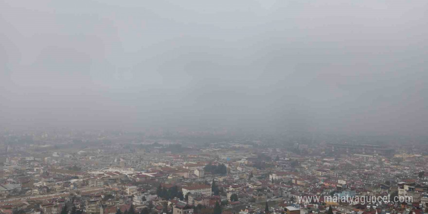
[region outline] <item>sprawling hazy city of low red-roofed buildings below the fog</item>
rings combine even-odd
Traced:
[[[9,132],[0,142],[3,214],[427,213],[426,147],[125,133]]]

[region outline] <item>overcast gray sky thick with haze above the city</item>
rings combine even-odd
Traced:
[[[427,0],[1,0],[0,125],[425,135]]]

